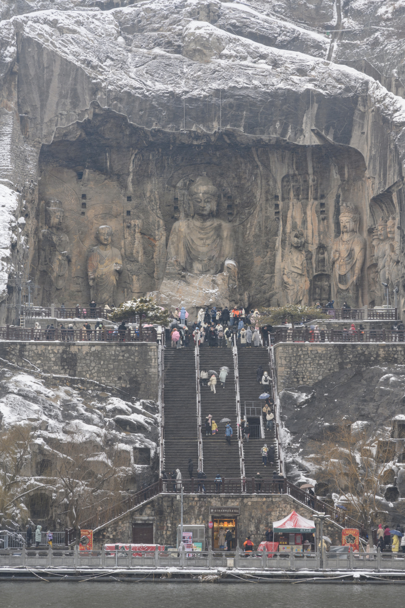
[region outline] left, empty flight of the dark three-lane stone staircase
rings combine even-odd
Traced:
[[[209,390],[209,389],[208,389]],[[165,348],[165,471],[180,469],[188,479],[188,459],[198,469],[196,362],[194,348]]]

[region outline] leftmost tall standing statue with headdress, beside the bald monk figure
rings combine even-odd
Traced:
[[[47,228],[41,230],[39,270],[46,275],[43,303],[60,304],[64,299],[62,290],[69,274],[70,243],[67,235],[61,230],[63,222],[61,202],[49,201],[49,203],[51,206],[46,207]]]

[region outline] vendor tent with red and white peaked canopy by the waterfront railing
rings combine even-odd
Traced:
[[[290,553],[291,547],[296,552],[315,550],[315,523],[295,511],[273,522],[273,532],[280,553]]]

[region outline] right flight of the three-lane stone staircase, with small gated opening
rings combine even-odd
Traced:
[[[256,382],[256,370],[259,365],[262,366],[264,371],[270,373],[268,363],[268,350],[262,346],[251,347],[251,348],[240,348],[237,349],[238,367],[239,367],[239,393],[240,393],[240,410],[242,416],[245,413],[245,401],[247,406],[253,404],[254,406],[263,406],[264,402],[260,401],[259,395],[265,392],[265,387],[259,382]],[[271,387],[270,387],[271,388]],[[271,394],[271,390],[270,390]],[[250,403],[248,403],[250,402]],[[252,478],[256,475],[257,471],[260,472],[264,479],[273,477],[273,471],[278,471],[278,459],[277,459],[277,443],[276,435],[273,430],[266,429],[264,424],[265,439],[250,439],[249,443],[243,444],[243,451],[245,454],[245,476]],[[267,447],[274,446],[275,460],[274,466],[267,463],[266,468],[262,465],[262,456],[260,450],[267,443]]]

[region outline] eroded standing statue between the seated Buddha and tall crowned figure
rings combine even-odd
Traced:
[[[302,230],[290,234],[290,248],[282,263],[285,299],[288,304],[307,304],[310,283],[305,260],[305,237]]]

